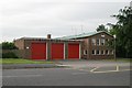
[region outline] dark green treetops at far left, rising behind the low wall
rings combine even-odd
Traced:
[[[0,47],[2,47],[2,50],[16,50],[16,46],[11,42],[2,42]]]

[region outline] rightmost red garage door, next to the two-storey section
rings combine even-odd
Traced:
[[[68,44],[68,58],[79,59],[79,44]]]

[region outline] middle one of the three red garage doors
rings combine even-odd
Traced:
[[[52,43],[52,59],[64,59],[64,43]]]

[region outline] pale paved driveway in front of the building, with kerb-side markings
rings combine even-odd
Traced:
[[[116,62],[116,61],[61,61],[57,62],[62,66],[68,66],[72,69],[86,70],[91,73],[109,73],[109,72],[124,72],[131,70],[129,62]]]

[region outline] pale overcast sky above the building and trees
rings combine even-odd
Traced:
[[[120,2],[119,2],[120,1]],[[96,31],[116,23],[110,15],[131,0],[1,0],[0,41],[19,37],[52,37]]]

